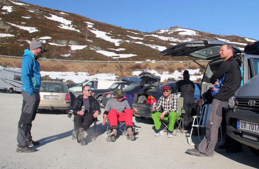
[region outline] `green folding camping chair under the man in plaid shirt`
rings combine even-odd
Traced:
[[[173,135],[176,135],[178,130],[179,132],[183,133],[183,119],[182,119],[182,113],[185,113],[185,111],[183,110],[183,98],[180,97],[180,98],[177,98],[176,99],[176,102],[177,102],[177,113],[179,114],[177,117],[176,117],[176,123],[175,123],[175,126],[174,128],[176,129],[175,133],[172,133]],[[168,127],[169,127],[169,123],[168,123],[168,120],[161,120],[162,122],[162,126],[163,126],[163,130],[167,131],[167,134],[168,134]],[[181,127],[182,125],[182,127]],[[175,130],[174,129],[174,130]]]

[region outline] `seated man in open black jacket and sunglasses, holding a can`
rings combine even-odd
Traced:
[[[101,113],[97,99],[91,97],[91,91],[90,86],[83,86],[83,94],[77,97],[71,109],[75,115],[75,131],[72,135],[81,145],[85,145],[83,131],[88,130],[94,119]],[[82,106],[85,107],[84,111],[82,111]]]

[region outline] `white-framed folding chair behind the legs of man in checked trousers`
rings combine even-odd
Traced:
[[[205,104],[203,107],[202,107],[202,111],[201,111],[201,114],[200,116],[193,116],[193,123],[192,123],[192,130],[193,130],[193,127],[197,127],[197,130],[198,130],[198,138],[200,141],[202,141],[200,139],[200,132],[199,132],[199,127],[203,127],[203,128],[206,128],[206,124],[207,124],[207,121],[209,119],[209,116],[210,116],[210,108],[211,108],[211,104]],[[197,124],[194,124],[196,121]],[[191,140],[191,137],[192,137],[192,130],[191,130],[191,133],[190,133],[190,137],[188,140],[188,143],[190,145],[195,145],[195,144],[191,144],[190,143],[190,140]],[[220,142],[217,142],[217,143],[222,143],[222,128],[221,128],[221,124],[220,124],[220,134],[221,134],[221,141]]]

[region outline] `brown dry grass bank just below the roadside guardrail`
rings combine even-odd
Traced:
[[[55,71],[55,72],[88,72],[91,75],[99,73],[114,73],[120,78],[132,76],[132,71],[143,71],[144,69],[156,71],[168,71],[173,73],[175,70],[181,71],[185,69],[202,69],[196,63],[74,63],[61,61],[39,61],[41,71]],[[18,58],[4,58],[0,57],[0,65],[6,67],[21,67],[21,59]],[[120,69],[122,65],[123,69]],[[207,62],[201,63],[206,67]],[[200,82],[200,81],[197,81]]]

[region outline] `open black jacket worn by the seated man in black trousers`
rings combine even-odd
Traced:
[[[89,97],[89,103],[90,103],[90,108],[89,111],[90,113],[94,113],[94,111],[99,111],[99,113],[101,113],[101,109],[99,108],[99,103],[97,101],[96,98],[94,97]],[[78,111],[81,110],[83,106],[83,95],[79,95],[77,97],[77,99],[74,101],[72,109],[73,110],[73,114],[76,115]]]

